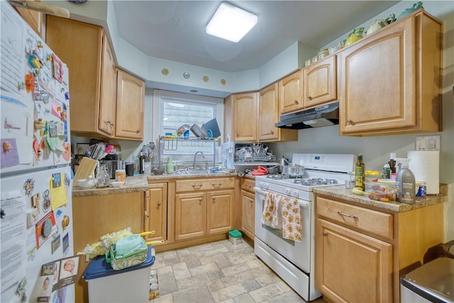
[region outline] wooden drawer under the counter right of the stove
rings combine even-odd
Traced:
[[[392,214],[317,197],[317,216],[392,239]]]

